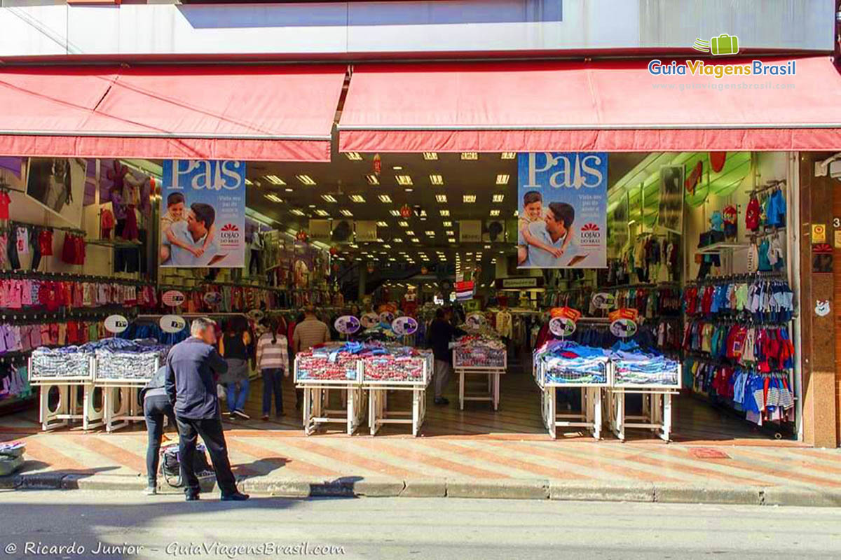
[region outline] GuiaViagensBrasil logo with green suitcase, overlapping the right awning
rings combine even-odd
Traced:
[[[713,56],[738,55],[738,37],[722,33],[708,41],[695,39],[692,48]],[[648,63],[648,73],[652,76],[709,76],[716,80],[721,80],[724,76],[794,76],[796,60],[770,64],[762,60],[744,60],[737,64],[710,64],[705,60],[671,60],[664,63],[654,59]]]

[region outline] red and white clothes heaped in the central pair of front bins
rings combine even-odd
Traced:
[[[398,344],[327,343],[295,356],[295,382],[426,385],[431,352]]]

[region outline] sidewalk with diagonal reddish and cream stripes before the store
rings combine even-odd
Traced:
[[[609,434],[602,442],[578,433],[550,440],[542,428],[532,379],[516,374],[505,379],[500,411],[475,403],[459,411],[451,399],[450,406],[430,406],[422,437],[410,437],[405,427],[383,429],[376,437],[368,436],[365,427],[352,437],[340,433],[339,427],[305,437],[292,386],[284,385],[287,416],[262,421],[262,392],[255,385],[246,407],[253,419],[225,421],[231,463],[240,476],[841,487],[838,450],[775,440],[691,398],[676,400],[675,442],[669,444],[645,433],[626,443]],[[394,395],[392,404],[405,405],[405,395]],[[166,437],[177,442],[175,432]],[[0,439],[25,440],[24,469],[29,473],[145,473],[142,425],[114,433],[41,433],[36,412],[27,411],[0,418]]]

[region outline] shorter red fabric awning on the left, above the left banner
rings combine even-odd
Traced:
[[[345,70],[4,68],[0,154],[329,161]]]

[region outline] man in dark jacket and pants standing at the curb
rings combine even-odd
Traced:
[[[191,325],[190,338],[173,346],[167,356],[167,395],[175,406],[178,436],[181,438],[181,479],[187,501],[198,500],[201,488],[193,471],[193,454],[196,440],[201,436],[210,453],[222,500],[248,500],[247,494],[241,494],[236,489],[225,434],[222,433],[214,377],[225,374],[228,364],[213,347],[216,343],[214,326],[210,319],[199,317]]]

